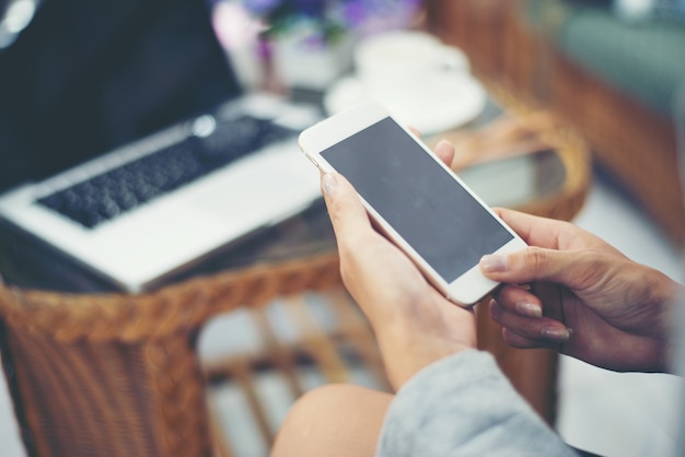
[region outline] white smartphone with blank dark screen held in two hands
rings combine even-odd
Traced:
[[[485,254],[525,247],[464,183],[375,103],[329,117],[299,138],[322,172],[345,176],[380,230],[450,301],[468,307],[498,284]]]

